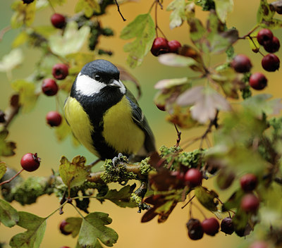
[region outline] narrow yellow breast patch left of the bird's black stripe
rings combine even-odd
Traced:
[[[68,124],[71,126],[73,135],[75,135],[78,141],[91,151],[92,154],[99,156],[92,146],[91,132],[93,131],[93,127],[90,124],[87,113],[85,113],[80,103],[75,98],[68,97],[63,111],[65,112]]]

